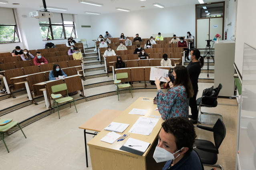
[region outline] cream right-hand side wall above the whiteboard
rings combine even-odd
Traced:
[[[236,22],[236,53],[235,63],[242,75],[244,43],[256,48],[256,1],[242,0],[238,1],[237,22]]]

